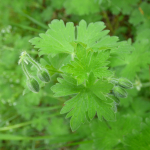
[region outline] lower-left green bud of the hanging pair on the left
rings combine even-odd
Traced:
[[[27,80],[27,86],[34,93],[37,93],[40,90],[39,83],[33,77],[30,77]]]

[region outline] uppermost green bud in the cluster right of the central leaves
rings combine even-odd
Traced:
[[[133,88],[132,83],[128,79],[125,79],[125,78],[120,78],[118,80],[118,85],[123,87],[123,88],[126,88],[126,89]]]

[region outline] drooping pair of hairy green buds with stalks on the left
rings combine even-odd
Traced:
[[[50,81],[50,75],[48,73],[48,71],[41,67],[34,59],[32,59],[29,54],[27,54],[26,52],[22,52],[21,56],[20,56],[20,60],[19,60],[19,64],[22,65],[22,69],[27,77],[27,86],[30,89],[30,91],[37,93],[40,90],[39,87],[39,83],[38,81],[32,76],[30,75],[30,73],[28,72],[26,65],[28,65],[29,63],[31,63],[32,65],[34,65],[37,69],[37,77],[42,81],[42,82],[49,82]]]

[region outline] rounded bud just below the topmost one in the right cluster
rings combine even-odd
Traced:
[[[113,88],[113,93],[117,98],[126,98],[127,97],[127,92],[126,90],[124,90],[123,88],[119,87],[119,86],[115,86]]]

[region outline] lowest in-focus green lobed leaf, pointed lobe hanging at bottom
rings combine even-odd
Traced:
[[[75,94],[72,99],[65,102],[61,113],[68,113],[67,118],[71,117],[70,125],[72,131],[75,131],[86,118],[86,112],[90,120],[93,119],[96,112],[101,119],[114,120],[115,112],[113,100],[109,101],[106,97],[107,93],[112,89],[113,85],[102,79],[96,80],[94,75],[89,75],[86,86],[77,85],[75,79],[63,75],[64,79],[59,79],[59,83],[52,87],[55,96],[65,96]]]

